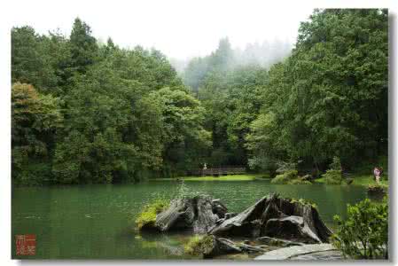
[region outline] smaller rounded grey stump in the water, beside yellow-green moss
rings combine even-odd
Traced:
[[[192,230],[194,233],[206,233],[226,213],[227,208],[210,196],[176,199],[170,202],[167,210],[156,215],[154,226],[160,231]]]

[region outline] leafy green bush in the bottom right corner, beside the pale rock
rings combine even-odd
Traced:
[[[388,201],[365,199],[355,206],[347,205],[347,220],[334,216],[338,230],[332,243],[354,259],[388,259]]]

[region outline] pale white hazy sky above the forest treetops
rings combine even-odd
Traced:
[[[20,1],[12,2],[12,26],[30,25],[39,33],[59,27],[69,35],[73,20],[86,21],[97,38],[122,47],[155,47],[175,59],[206,55],[223,36],[234,48],[280,39],[294,43],[300,21],[313,4],[300,1]]]

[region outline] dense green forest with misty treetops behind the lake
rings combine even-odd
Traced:
[[[266,27],[266,26],[264,26]],[[182,74],[160,51],[12,28],[14,184],[136,182],[208,166],[324,171],[387,154],[388,14],[316,10],[273,66],[228,39]]]

